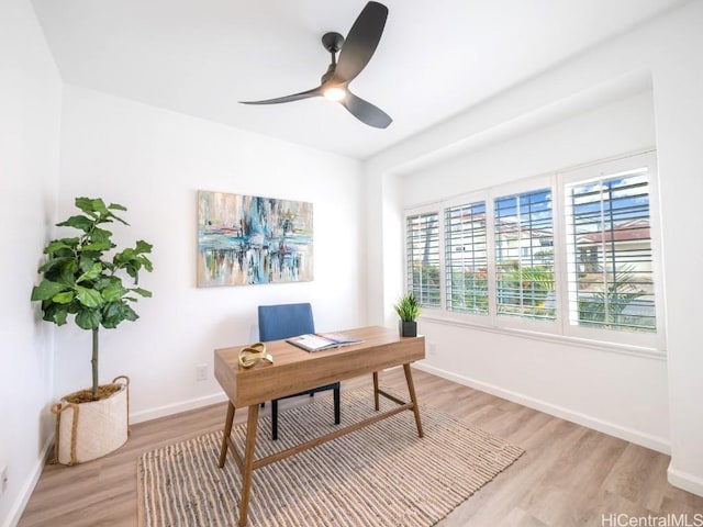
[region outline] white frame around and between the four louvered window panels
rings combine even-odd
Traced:
[[[569,321],[569,291],[568,291],[568,258],[567,258],[567,217],[565,190],[567,184],[584,182],[607,173],[632,170],[638,166],[648,167],[649,187],[649,224],[652,255],[652,280],[657,327],[654,333],[635,333],[595,327],[572,325]],[[554,247],[554,277],[555,277],[555,309],[554,321],[535,321],[520,316],[504,316],[498,314],[496,306],[496,255],[495,255],[495,225],[494,202],[501,197],[531,192],[548,188],[551,192],[553,215],[553,247]],[[559,169],[538,176],[533,176],[504,184],[467,192],[448,199],[425,203],[419,206],[409,206],[404,211],[403,236],[406,240],[406,218],[416,214],[436,213],[438,218],[439,238],[439,306],[423,306],[421,318],[437,323],[471,326],[486,330],[513,333],[546,338],[549,340],[567,340],[585,346],[595,346],[599,349],[614,349],[634,355],[661,356],[666,349],[665,334],[665,306],[662,287],[662,253],[660,238],[660,211],[659,191],[656,164],[656,150],[654,148],[637,153],[624,154],[617,157],[601,159],[578,167]],[[450,311],[447,309],[447,268],[446,268],[446,210],[453,206],[470,204],[483,201],[487,216],[487,257],[488,257],[488,315]],[[408,247],[403,257],[404,283],[408,284]]]

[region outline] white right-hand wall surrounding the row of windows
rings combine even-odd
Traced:
[[[703,262],[703,247],[691,244],[690,236],[681,235],[682,232],[690,233],[696,224],[695,211],[703,199],[703,180],[698,169],[700,123],[703,122],[701,27],[703,0],[694,0],[375,156],[366,164],[366,172],[369,188],[379,192],[392,189],[399,182],[404,183],[409,175],[417,173],[416,177],[422,178],[424,173],[427,184],[422,195],[426,201],[433,194],[445,195],[447,189],[444,184],[456,188],[459,182],[458,166],[455,164],[453,167],[451,161],[446,161],[447,156],[469,156],[465,160],[471,162],[473,168],[505,169],[491,170],[490,180],[484,179],[482,173],[470,176],[477,181],[467,177],[469,190],[517,178],[517,172],[523,172],[524,177],[562,168],[574,156],[582,155],[583,160],[596,159],[606,154],[611,146],[612,154],[623,152],[623,138],[616,136],[609,136],[604,143],[599,136],[577,134],[572,142],[556,141],[554,148],[545,143],[537,150],[524,149],[521,145],[534,148],[536,144],[539,146],[549,139],[549,133],[539,132],[539,126],[525,135],[531,123],[543,125],[546,119],[554,119],[559,113],[573,109],[582,111],[589,105],[595,109],[603,104],[609,94],[634,94],[639,90],[638,79],[643,72],[650,77],[665,250],[667,363],[616,357],[607,351],[576,346],[545,345],[466,328],[442,327],[438,330],[429,324],[423,324],[421,328],[433,332],[432,338],[437,340],[437,346],[449,354],[433,359],[433,368],[439,368],[437,371],[467,383],[483,384],[484,389],[500,391],[505,396],[520,399],[526,404],[574,421],[590,422],[591,426],[631,437],[637,442],[662,450],[670,449],[669,481],[703,495],[703,419],[700,418],[700,408],[703,407],[703,355],[696,344],[703,340],[703,326],[698,321],[700,309],[695,295],[690,294],[691,279],[688,278],[691,277],[691,269],[696,269]],[[633,101],[631,103],[636,104]],[[651,133],[651,108],[641,114],[647,134]],[[601,116],[610,119],[604,114]],[[626,123],[627,120],[615,122]],[[610,131],[603,133],[610,134]],[[521,134],[525,143],[509,138]],[[625,139],[633,138],[641,138],[639,132]],[[478,146],[486,148],[491,143],[494,146],[490,147],[490,152],[477,150]],[[633,143],[636,144],[637,141]],[[465,154],[467,149],[473,154]],[[545,149],[549,152],[545,153]],[[511,155],[517,155],[522,162],[513,162]],[[443,165],[442,173],[427,169],[433,165],[436,170]],[[412,192],[409,191],[406,199],[417,200],[417,193]],[[369,233],[382,233],[370,240],[369,249],[369,272],[373,269],[382,274],[375,278],[368,305],[383,306],[373,312],[371,322],[392,318],[390,305],[402,290],[402,255],[391,256],[383,253],[381,247],[382,239],[399,239],[402,236],[398,221],[402,217],[402,208],[382,209],[398,201],[397,195],[378,197],[373,203],[381,209],[368,214],[375,222],[367,225]],[[488,349],[501,349],[503,358],[507,360],[502,368],[514,366],[516,371],[520,368],[522,372],[496,371],[495,361],[483,362],[486,358],[480,350],[466,351],[468,347],[464,343],[472,341]],[[451,355],[453,349],[469,355],[460,358],[459,354]],[[518,349],[521,352],[517,352]],[[553,363],[557,357],[560,359]],[[471,361],[473,363],[469,372]],[[457,367],[460,368],[458,375],[454,373]],[[567,386],[561,377],[573,379],[577,367],[582,368],[583,377],[578,383]],[[651,383],[652,392],[645,393],[639,389],[637,395],[644,399],[633,399],[623,386],[633,386],[640,378]],[[593,404],[590,401],[593,397],[592,386],[603,384],[607,384],[607,396],[596,397],[598,404]],[[596,407],[601,403],[611,407]]]

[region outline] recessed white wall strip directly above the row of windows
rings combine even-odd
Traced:
[[[655,146],[651,82],[528,133],[403,176],[405,209]],[[427,184],[431,181],[432,184]]]

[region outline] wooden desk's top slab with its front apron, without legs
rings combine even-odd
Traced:
[[[234,406],[243,407],[425,358],[425,338],[400,337],[397,328],[368,326],[334,333],[361,341],[310,352],[274,340],[266,343],[274,365],[259,362],[250,369],[239,367],[238,354],[252,343],[221,348],[214,352],[215,378]]]

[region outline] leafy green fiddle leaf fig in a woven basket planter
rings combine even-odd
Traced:
[[[134,247],[115,250],[112,232],[104,228],[115,222],[129,225],[115,214],[126,208],[105,205],[99,198],[76,198],[76,206],[82,214],[56,225],[78,233],[46,245],[46,260],[38,268],[42,279],[32,289],[32,301],[42,303],[44,321],[63,326],[72,317],[92,334],[91,388],[66,395],[52,407],[57,421],[55,461],[64,464],[96,459],[126,441],[129,379],[99,384],[99,332],[136,321],[132,305],[138,298],[152,296],[137,285],[140,271],[153,269],[146,256],[152,245],[140,239]]]

